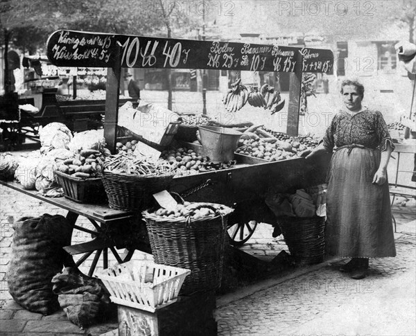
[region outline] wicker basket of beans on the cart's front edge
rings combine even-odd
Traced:
[[[110,208],[143,211],[150,206],[154,193],[169,188],[174,175],[132,175],[103,170],[100,176]]]

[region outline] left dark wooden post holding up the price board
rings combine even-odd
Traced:
[[[107,143],[107,148],[113,154],[116,151],[117,121],[119,118],[120,50],[120,46],[117,46],[114,55],[114,67],[107,69],[107,84],[105,86],[104,138],[105,143]]]

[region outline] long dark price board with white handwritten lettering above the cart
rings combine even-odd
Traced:
[[[47,42],[47,56],[58,67],[114,67],[120,48],[121,67],[294,72],[302,55],[304,72],[331,72],[328,49],[295,48],[189,39],[58,30]]]

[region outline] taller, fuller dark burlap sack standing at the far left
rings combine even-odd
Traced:
[[[62,215],[21,218],[13,224],[12,258],[8,267],[9,292],[20,306],[49,315],[59,309],[51,279],[62,270],[71,245],[72,229]]]

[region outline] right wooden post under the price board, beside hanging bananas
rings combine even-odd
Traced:
[[[291,73],[289,82],[288,123],[286,126],[286,134],[290,136],[297,136],[299,128],[302,67],[303,56],[300,51],[297,51],[295,71]]]

